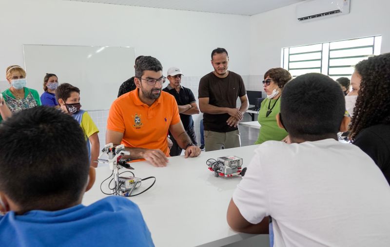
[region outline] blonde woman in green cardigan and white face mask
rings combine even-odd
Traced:
[[[10,87],[1,94],[12,113],[41,105],[37,90],[26,88],[26,72],[23,68],[18,65],[9,66],[5,77]]]

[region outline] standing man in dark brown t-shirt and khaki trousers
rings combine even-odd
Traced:
[[[199,82],[199,109],[203,114],[206,151],[241,146],[238,123],[248,109],[248,97],[240,75],[228,71],[229,57],[224,48],[211,53],[214,71]],[[236,107],[237,97],[241,107]]]

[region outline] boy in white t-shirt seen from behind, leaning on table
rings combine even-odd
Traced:
[[[268,233],[283,246],[390,246],[390,187],[372,159],[337,141],[347,131],[340,86],[321,74],[298,76],[281,95],[276,120],[292,144],[267,141],[230,202],[236,231]]]

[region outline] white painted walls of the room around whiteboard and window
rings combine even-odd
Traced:
[[[382,35],[382,53],[390,52],[389,0],[351,0],[350,14],[310,22],[295,19],[295,6],[248,17],[65,0],[1,0],[0,88],[5,87],[7,66],[23,66],[22,44],[135,47],[136,56],[157,57],[164,74],[179,66],[183,85],[196,98],[200,77],[212,71],[210,53],[217,46],[228,50],[230,69],[243,76],[248,90],[262,90],[262,75],[280,66],[282,47]],[[107,111],[92,115],[102,139]],[[197,132],[200,118],[194,115]]]

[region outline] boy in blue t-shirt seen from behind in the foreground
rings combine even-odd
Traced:
[[[95,182],[84,133],[36,107],[0,125],[0,246],[154,246],[137,205],[109,196],[81,205]]]

